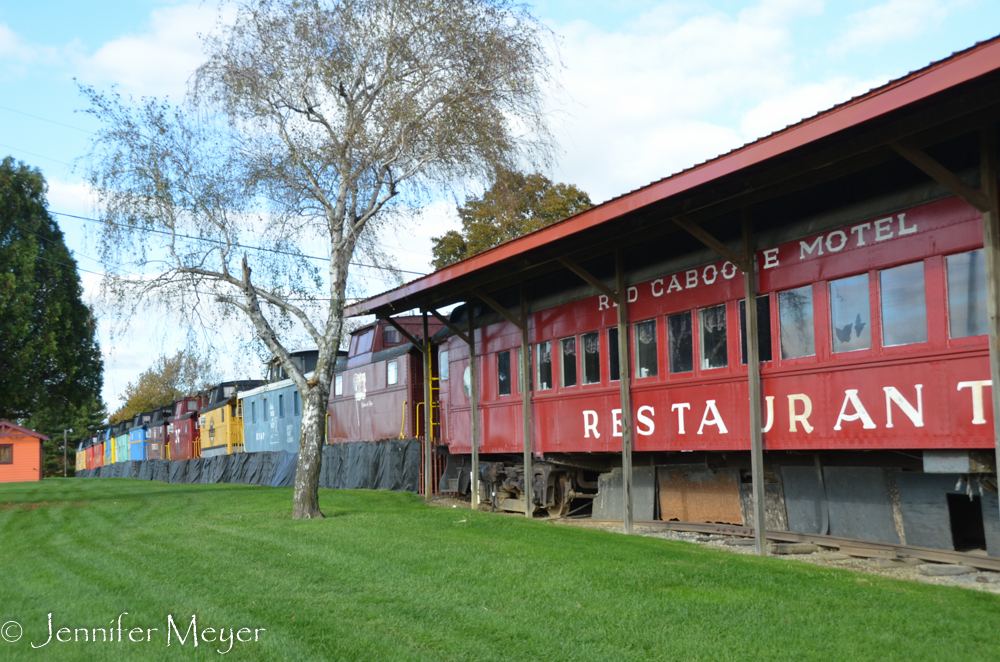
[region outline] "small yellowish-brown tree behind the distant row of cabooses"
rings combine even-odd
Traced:
[[[111,424],[165,407],[219,381],[221,377],[211,360],[193,350],[182,349],[173,356],[161,356],[135,383],[129,382],[125,387],[125,404],[111,415]]]

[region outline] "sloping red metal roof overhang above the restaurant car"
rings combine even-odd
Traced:
[[[614,251],[641,253],[645,248],[648,252],[654,238],[661,238],[657,242],[661,254],[691,250],[687,233],[671,221],[679,214],[717,232],[722,241],[733,240],[739,224],[727,224],[727,215],[755,205],[766,207],[781,196],[801,194],[879,166],[926,179],[889,144],[907,139],[933,149],[998,118],[1000,37],[704,164],[358,302],[346,308],[345,316],[385,318],[404,310],[464,302],[472,288],[494,293],[528,281],[544,282],[541,276],[565,271],[557,261],[563,257],[597,260],[595,273],[602,277]],[[952,164],[968,165],[959,161],[953,158]],[[901,175],[881,176],[896,181]],[[780,215],[771,221],[780,222]],[[755,221],[758,226],[767,223],[763,215]],[[683,236],[662,241],[678,232]]]

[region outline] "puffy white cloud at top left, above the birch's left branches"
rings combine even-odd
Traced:
[[[200,3],[154,9],[146,32],[119,37],[81,57],[78,75],[87,83],[118,85],[126,94],[179,99],[205,61],[199,34],[210,32],[217,17],[215,9]]]

